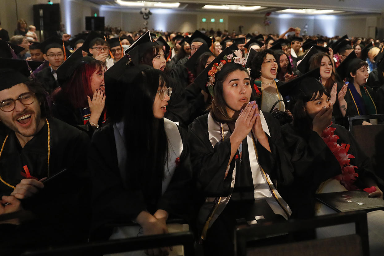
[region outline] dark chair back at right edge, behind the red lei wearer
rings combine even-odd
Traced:
[[[361,119],[384,119],[381,115],[349,116],[349,131],[358,142],[364,153],[371,159],[376,174],[384,178],[384,172],[381,167],[381,160],[384,158],[382,145],[384,144],[384,124],[374,124],[371,126],[353,126],[354,120]]]

